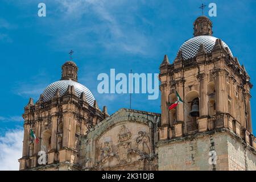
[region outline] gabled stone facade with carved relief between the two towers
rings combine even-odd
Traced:
[[[86,170],[156,170],[160,114],[120,109],[81,137]]]

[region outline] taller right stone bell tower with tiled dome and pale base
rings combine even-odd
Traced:
[[[159,170],[255,170],[250,77],[207,16],[193,26],[174,61],[160,64]],[[184,103],[169,110],[176,92]]]

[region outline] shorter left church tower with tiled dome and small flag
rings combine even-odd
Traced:
[[[24,107],[20,170],[77,170],[79,139],[108,117],[90,90],[77,82],[77,65],[67,61],[61,80],[49,84],[34,103]],[[33,137],[35,134],[36,139]]]

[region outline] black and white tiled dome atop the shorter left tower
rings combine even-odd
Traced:
[[[76,95],[78,97],[80,97],[81,93],[84,92],[89,105],[93,106],[94,97],[92,92],[90,92],[90,90],[84,85],[72,80],[60,80],[49,84],[43,92],[43,101],[51,100],[51,98],[55,95],[57,89],[60,90],[60,96],[63,96],[63,94],[68,89],[68,85],[74,86]]]

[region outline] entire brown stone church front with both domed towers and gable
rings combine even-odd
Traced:
[[[209,18],[193,25],[173,63],[165,55],[160,64],[161,114],[119,109],[109,116],[77,86],[78,68],[67,61],[54,96],[47,87],[24,108],[20,170],[256,170],[250,77],[212,36]],[[42,150],[46,164],[38,162]]]

